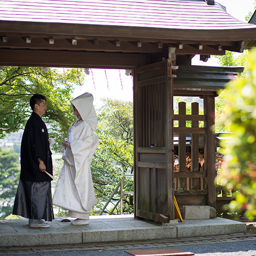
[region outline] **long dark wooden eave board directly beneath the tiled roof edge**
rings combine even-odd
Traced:
[[[19,36],[33,35],[39,37],[54,37],[54,38],[72,38],[76,39],[99,39],[105,38],[108,40],[129,40],[129,41],[151,41],[176,42],[182,43],[184,38],[190,40],[191,44],[195,42],[203,44],[205,38],[209,42],[215,42],[216,45],[223,45],[222,42],[236,42],[256,40],[255,28],[240,28],[240,29],[220,29],[205,30],[205,29],[163,29],[163,28],[147,28],[147,27],[126,27],[126,26],[101,26],[88,24],[66,24],[66,23],[42,23],[42,22],[15,22],[1,20],[0,36],[9,36],[13,33]],[[91,37],[91,38],[89,38]],[[126,38],[126,39],[125,39]],[[214,44],[215,45],[215,44]]]

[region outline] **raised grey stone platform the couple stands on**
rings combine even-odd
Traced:
[[[0,247],[148,241],[246,232],[245,223],[223,218],[173,220],[167,225],[138,220],[133,215],[90,218],[89,225],[76,226],[61,222],[67,218],[56,218],[49,222],[50,228],[30,228],[27,219],[0,220]]]

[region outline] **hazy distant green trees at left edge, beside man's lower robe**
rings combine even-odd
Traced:
[[[0,147],[0,219],[12,214],[19,181],[19,154]]]

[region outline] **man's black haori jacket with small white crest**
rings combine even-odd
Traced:
[[[22,137],[20,147],[20,179],[40,182],[52,179],[39,170],[37,158],[44,161],[46,171],[52,175],[52,153],[46,124],[41,117],[32,112]]]

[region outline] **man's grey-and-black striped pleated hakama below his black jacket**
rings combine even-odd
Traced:
[[[51,181],[32,182],[20,179],[13,206],[13,215],[27,219],[52,221],[54,215]]]

